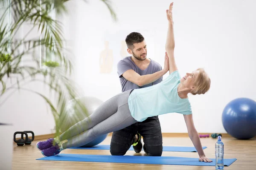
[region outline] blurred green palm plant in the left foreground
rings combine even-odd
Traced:
[[[73,99],[77,102],[75,109],[87,113],[84,104],[76,100],[79,91],[70,79],[72,62],[63,52],[65,40],[61,23],[51,15],[53,11],[56,15],[67,12],[67,1],[0,0],[0,106],[4,105],[14,89],[41,96],[54,117],[55,136],[60,133],[61,124],[58,120],[65,117],[68,101]],[[111,16],[116,20],[110,1],[101,1],[107,5]],[[29,24],[31,29],[23,37],[17,38],[17,32],[23,24]],[[29,38],[29,34],[35,30],[40,36]],[[49,92],[53,92],[55,97],[50,98],[46,93],[24,87],[30,82],[47,85]],[[0,134],[4,136],[2,143],[5,144],[0,146],[0,150],[5,153],[1,154],[4,157],[0,157],[0,165],[5,170],[12,166],[14,132],[11,127],[12,122],[0,120]]]

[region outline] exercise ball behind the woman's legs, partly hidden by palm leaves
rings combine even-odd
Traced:
[[[82,113],[80,110],[74,110],[74,108],[76,108],[75,107],[76,102],[75,100],[70,100],[66,106],[67,114],[60,117],[60,120],[59,120],[61,122],[61,126],[60,126],[61,132],[66,131],[71,126],[75,125],[77,122],[93,114],[96,108],[98,108],[103,103],[102,100],[97,99],[96,97],[93,97],[93,96],[83,96],[78,99],[81,103],[85,105],[87,109],[87,114]],[[93,147],[101,143],[102,141],[104,141],[107,136],[108,136],[108,133],[98,136],[96,139],[93,139],[93,141],[87,144],[84,144],[81,147]]]

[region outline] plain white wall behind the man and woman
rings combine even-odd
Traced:
[[[175,57],[180,74],[203,67],[212,87],[205,95],[189,96],[195,126],[200,133],[225,133],[221,113],[230,100],[256,100],[256,11],[253,0],[173,0]],[[69,16],[61,18],[65,37],[74,53],[75,79],[87,96],[106,101],[121,92],[116,63],[121,59],[121,41],[139,31],[148,44],[148,57],[163,65],[169,0],[111,0],[118,22],[114,23],[99,0],[67,4]],[[157,3],[156,3],[157,2]],[[101,74],[99,56],[104,42],[113,50],[113,67]],[[164,75],[164,78],[168,76]],[[31,84],[44,91],[44,86]],[[14,102],[14,103],[11,103]],[[12,122],[17,130],[33,130],[36,135],[51,133],[54,121],[43,99],[27,92],[16,93],[0,108],[0,122]],[[186,133],[183,116],[160,116],[162,132]]]

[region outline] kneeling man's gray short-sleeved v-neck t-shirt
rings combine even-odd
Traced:
[[[145,87],[148,87],[148,86],[151,86],[151,85],[156,85],[156,84],[160,83],[163,80],[163,77],[160,77],[156,81],[154,81],[152,83],[149,83],[147,85],[143,85],[143,86],[140,87],[140,86],[134,84],[133,82],[128,81],[127,79],[125,79],[122,76],[122,74],[125,71],[131,70],[131,69],[142,76],[142,75],[146,75],[146,74],[153,74],[157,71],[160,71],[160,70],[162,70],[162,67],[159,63],[157,63],[157,62],[155,62],[154,60],[151,59],[148,67],[145,70],[141,70],[131,60],[131,56],[123,58],[117,64],[117,74],[119,76],[120,83],[121,83],[121,86],[122,86],[122,92],[131,90],[131,89],[145,88]]]

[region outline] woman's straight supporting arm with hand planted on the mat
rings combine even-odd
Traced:
[[[208,159],[204,154],[204,150],[202,148],[200,137],[198,135],[197,130],[195,129],[192,114],[184,115],[184,119],[186,122],[186,127],[188,129],[189,138],[191,139],[192,143],[195,146],[195,149],[198,152],[199,161],[212,162],[212,160]]]

